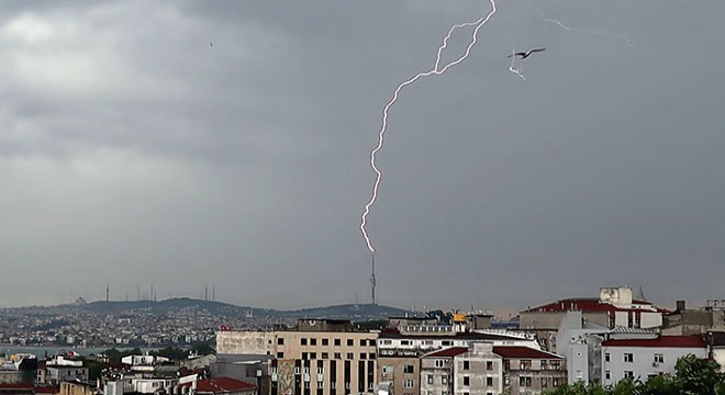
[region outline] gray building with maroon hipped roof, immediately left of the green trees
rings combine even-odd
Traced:
[[[503,385],[512,394],[540,394],[567,382],[562,357],[521,346],[493,347],[503,358]]]

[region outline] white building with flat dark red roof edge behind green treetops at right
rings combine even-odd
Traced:
[[[602,384],[614,384],[624,377],[647,380],[674,373],[677,360],[687,354],[707,358],[707,347],[701,336],[610,338],[602,342]]]

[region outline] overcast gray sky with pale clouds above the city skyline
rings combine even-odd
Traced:
[[[368,301],[358,223],[382,106],[489,10],[3,2],[1,304],[98,300],[107,282],[118,300],[153,283],[266,307]],[[499,0],[470,57],[391,111],[368,227],[380,302],[725,297],[723,14]],[[512,48],[538,46],[526,81],[509,71]]]

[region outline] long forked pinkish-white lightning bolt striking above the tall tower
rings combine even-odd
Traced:
[[[488,13],[488,15],[480,18],[479,20],[475,22],[465,22],[465,23],[459,23],[455,24],[448,30],[448,34],[443,38],[443,44],[438,47],[438,52],[435,58],[435,65],[433,66],[432,70],[424,71],[424,72],[419,72],[412,78],[410,78],[406,81],[401,82],[398,88],[395,88],[395,91],[393,92],[392,99],[386,104],[384,109],[382,110],[382,126],[380,127],[380,132],[378,133],[378,145],[372,149],[370,153],[370,167],[372,168],[372,171],[376,173],[376,179],[375,183],[372,184],[372,195],[370,196],[370,200],[368,203],[365,205],[365,210],[362,212],[362,216],[360,217],[360,232],[362,233],[362,237],[365,238],[365,244],[367,245],[368,249],[370,252],[375,253],[375,248],[372,247],[372,241],[370,240],[370,236],[368,235],[368,232],[366,229],[367,225],[367,218],[368,214],[370,214],[370,208],[375,204],[375,202],[378,200],[378,188],[380,187],[380,180],[382,179],[382,172],[380,169],[376,166],[375,160],[377,154],[382,149],[382,143],[384,139],[386,131],[388,128],[388,112],[390,111],[390,108],[398,101],[398,95],[400,94],[400,91],[408,87],[411,83],[414,83],[421,78],[424,77],[431,77],[431,76],[440,76],[446,70],[449,68],[460,64],[461,61],[466,60],[468,55],[471,52],[471,48],[473,45],[476,45],[476,40],[478,37],[478,31],[493,16],[495,13],[495,1],[494,0],[489,0],[491,2],[491,12]],[[470,27],[470,26],[476,26],[473,29],[473,34],[471,35],[471,41],[468,43],[468,47],[466,47],[466,52],[464,55],[461,55],[459,58],[451,60],[448,64],[445,64],[443,67],[440,66],[440,56],[443,55],[443,50],[448,46],[448,40],[450,40],[450,36],[453,32],[457,29],[462,29],[462,27]]]

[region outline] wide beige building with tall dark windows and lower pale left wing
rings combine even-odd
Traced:
[[[220,331],[217,354],[272,356],[271,395],[344,395],[376,385],[377,332],[355,331],[348,320],[300,319],[272,331]]]

